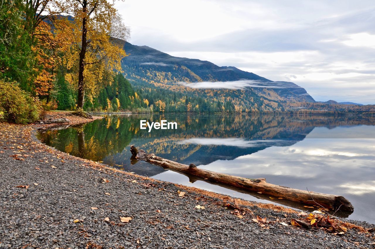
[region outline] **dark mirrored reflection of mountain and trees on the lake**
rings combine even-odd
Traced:
[[[176,121],[178,129],[139,129],[139,120]],[[372,124],[374,118],[321,117],[312,115],[131,115],[102,120],[59,131],[41,133],[40,139],[59,150],[93,161],[153,176],[163,169],[145,163],[130,165],[130,144],[185,164],[231,160],[271,146],[291,146],[314,127]]]

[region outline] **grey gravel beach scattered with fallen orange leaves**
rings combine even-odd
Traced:
[[[69,112],[50,115],[71,124],[90,121]],[[374,232],[351,228],[333,235],[285,226],[281,222],[299,219],[298,211],[70,156],[40,143],[39,127],[0,123],[0,249],[375,248]],[[254,221],[257,216],[266,222]]]

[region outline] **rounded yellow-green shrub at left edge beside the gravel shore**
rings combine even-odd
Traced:
[[[42,106],[38,98],[21,90],[16,82],[0,79],[0,119],[31,123],[39,119]]]

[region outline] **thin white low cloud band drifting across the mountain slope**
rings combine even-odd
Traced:
[[[196,89],[244,89],[246,87],[260,88],[300,88],[292,82],[265,82],[258,80],[236,80],[236,81],[204,81],[204,82],[178,82],[177,84]]]

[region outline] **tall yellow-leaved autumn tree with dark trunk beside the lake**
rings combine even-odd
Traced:
[[[77,107],[83,108],[85,93],[92,100],[113,80],[113,71],[121,71],[126,54],[116,38],[126,39],[129,29],[107,0],[67,0],[59,7],[74,16],[66,79],[78,90]]]

